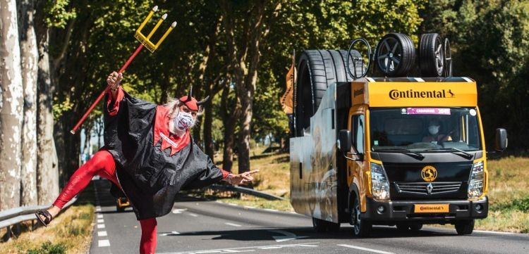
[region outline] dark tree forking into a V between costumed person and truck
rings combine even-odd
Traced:
[[[252,1],[233,4],[221,2],[224,30],[236,93],[241,101],[238,136],[238,172],[250,170],[250,123],[253,96],[260,68],[261,45],[267,40],[270,26],[281,10],[280,1]],[[242,18],[247,17],[249,18]]]

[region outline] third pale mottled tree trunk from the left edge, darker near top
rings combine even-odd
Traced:
[[[39,8],[37,8],[39,9]],[[43,13],[40,13],[43,15]],[[35,17],[39,51],[37,75],[37,193],[39,205],[48,205],[59,195],[59,168],[54,141],[50,63],[48,56],[49,28],[43,17]]]

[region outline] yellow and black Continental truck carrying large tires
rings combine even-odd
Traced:
[[[373,55],[366,44],[365,58],[354,49],[301,53],[291,102],[291,204],[317,231],[343,222],[355,236],[372,225],[454,224],[471,234],[475,219],[487,217],[478,87],[451,77],[441,42],[422,35],[418,60],[411,39],[395,33]],[[370,60],[382,77],[367,76]],[[499,128],[494,150],[506,145]]]

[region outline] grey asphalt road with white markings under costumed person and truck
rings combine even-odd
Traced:
[[[96,224],[90,253],[138,253],[140,227],[130,208],[116,212],[106,180],[95,181]],[[375,227],[367,239],[351,236],[342,224],[336,233],[317,234],[303,215],[182,197],[173,212],[158,218],[157,253],[529,253],[528,234],[424,227],[402,233]]]

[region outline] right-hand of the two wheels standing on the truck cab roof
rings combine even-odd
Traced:
[[[439,34],[422,34],[419,42],[419,69],[422,77],[440,77],[444,71],[444,50]]]

